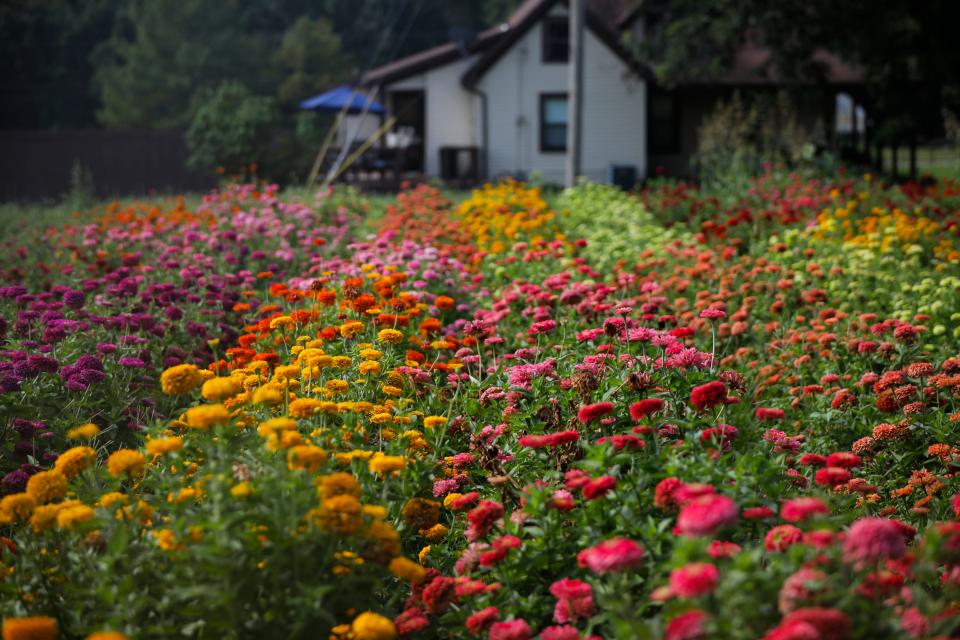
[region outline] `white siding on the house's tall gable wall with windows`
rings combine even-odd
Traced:
[[[562,13],[555,10],[551,15]],[[478,84],[488,96],[487,162],[491,178],[539,174],[564,180],[564,152],[540,151],[540,95],[567,90],[566,64],[542,62],[542,22],[531,28]],[[611,164],[646,175],[646,86],[589,29],[584,37],[581,173],[607,181]],[[435,119],[428,114],[428,128]]]

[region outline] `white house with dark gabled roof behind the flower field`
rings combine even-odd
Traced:
[[[564,179],[567,127],[567,3],[525,0],[503,24],[366,73],[412,143],[402,169],[441,178]],[[588,0],[584,36],[581,168],[592,180],[642,180],[653,167],[684,174],[700,120],[735,89],[770,88],[758,73],[766,54],[738,54],[730,74],[710,84],[658,88],[624,45],[642,39],[636,0]],[[838,65],[840,63],[837,63]],[[840,79],[835,77],[839,70]],[[832,81],[855,83],[831,69]],[[832,97],[831,97],[832,100]],[[820,105],[817,105],[817,109]]]

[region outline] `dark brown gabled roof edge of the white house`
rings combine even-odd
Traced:
[[[506,22],[481,32],[468,43],[448,42],[401,58],[363,75],[360,83],[370,86],[390,84],[450,62],[480,54],[463,76],[463,84],[472,86],[500,57],[560,0],[524,0]],[[586,26],[602,40],[624,64],[638,75],[649,77],[648,69],[620,41],[617,19],[623,7],[635,0],[588,0]]]

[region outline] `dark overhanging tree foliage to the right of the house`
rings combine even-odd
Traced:
[[[769,66],[785,80],[822,80],[818,49],[860,65],[877,133],[888,140],[935,134],[941,105],[960,107],[951,0],[651,0],[644,11],[639,49],[667,85],[717,75],[751,37],[770,49]]]

